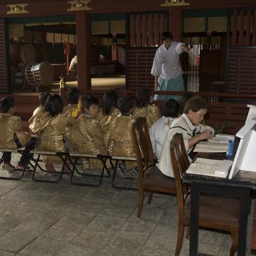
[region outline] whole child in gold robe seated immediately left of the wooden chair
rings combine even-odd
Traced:
[[[131,117],[133,100],[131,97],[122,97],[118,100],[117,106],[120,111],[109,129],[108,152],[112,156],[135,157],[135,151],[132,141],[132,123]],[[127,169],[134,167],[133,162],[126,163]],[[118,164],[118,171],[124,172],[122,163]]]

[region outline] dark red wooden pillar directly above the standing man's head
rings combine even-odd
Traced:
[[[169,31],[172,32],[173,41],[182,41],[182,10],[180,6],[169,10]]]

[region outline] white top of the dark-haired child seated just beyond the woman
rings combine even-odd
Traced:
[[[149,130],[153,153],[157,159],[160,159],[164,139],[174,119],[172,117],[162,116],[154,122]]]

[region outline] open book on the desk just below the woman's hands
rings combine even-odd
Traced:
[[[228,141],[200,141],[196,144],[194,152],[221,153],[228,151]]]

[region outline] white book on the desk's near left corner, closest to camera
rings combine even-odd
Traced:
[[[215,160],[198,157],[194,163],[189,165],[187,173],[225,178],[232,163],[233,161],[226,159]]]

